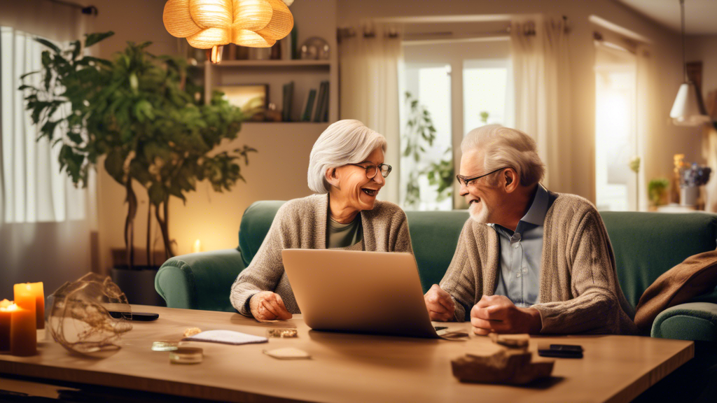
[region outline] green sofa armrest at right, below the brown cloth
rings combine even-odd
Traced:
[[[663,310],[652,323],[652,337],[717,341],[717,304],[683,303]]]

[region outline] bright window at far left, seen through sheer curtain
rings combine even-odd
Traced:
[[[60,172],[61,144],[37,141],[39,131],[25,110],[19,77],[40,70],[45,48],[33,36],[0,27],[1,196],[4,222],[62,222],[85,219],[87,192]],[[31,76],[39,84],[39,76]]]

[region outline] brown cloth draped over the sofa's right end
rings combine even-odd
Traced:
[[[660,275],[645,290],[637,304],[635,324],[642,330],[648,330],[663,310],[714,290],[716,285],[717,251],[690,256]]]

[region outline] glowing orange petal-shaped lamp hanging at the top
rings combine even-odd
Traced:
[[[294,27],[288,4],[293,0],[168,0],[162,16],[169,34],[191,47],[212,49],[212,63],[222,61],[222,47],[272,47]]]

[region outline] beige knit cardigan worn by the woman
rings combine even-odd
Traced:
[[[326,249],[328,194],[287,201],[280,207],[257,255],[232,285],[229,300],[239,313],[252,316],[248,301],[261,291],[281,296],[290,313],[300,313],[284,271],[284,249]],[[364,239],[343,250],[409,252],[413,254],[406,213],[389,201],[376,201],[374,209],[361,212]]]

